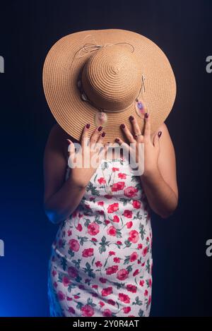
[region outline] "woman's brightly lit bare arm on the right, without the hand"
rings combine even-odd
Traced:
[[[162,132],[158,166],[140,178],[152,210],[167,218],[174,212],[178,203],[175,149],[165,123],[158,131]]]

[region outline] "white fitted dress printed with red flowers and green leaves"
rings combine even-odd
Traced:
[[[112,195],[105,181],[113,182]],[[50,315],[148,316],[152,267],[150,208],[139,176],[123,157],[104,159],[52,243]]]

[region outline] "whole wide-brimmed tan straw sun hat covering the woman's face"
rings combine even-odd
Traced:
[[[129,30],[71,33],[49,50],[43,67],[45,97],[57,123],[80,140],[83,127],[103,127],[105,142],[126,141],[120,124],[132,131],[134,116],[143,132],[144,114],[151,133],[163,124],[176,95],[175,76],[163,51]]]

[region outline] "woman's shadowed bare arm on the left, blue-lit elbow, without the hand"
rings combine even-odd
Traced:
[[[65,181],[66,154],[64,144],[66,136],[61,133],[58,124],[49,133],[44,155],[44,209],[49,220],[57,224],[76,209],[81,202],[85,188],[73,183],[71,176]]]

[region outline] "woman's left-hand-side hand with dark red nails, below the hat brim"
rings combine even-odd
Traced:
[[[71,183],[78,186],[79,188],[86,188],[90,178],[95,173],[101,160],[105,157],[108,145],[103,144],[103,138],[105,137],[105,132],[101,133],[102,127],[98,126],[93,131],[93,134],[88,138],[90,125],[86,124],[83,128],[83,133],[81,136],[81,148],[76,151],[75,145],[70,139],[67,139],[69,143],[68,153],[69,153],[69,167],[71,168],[69,179]],[[101,144],[102,150],[100,150]],[[78,162],[76,162],[78,161]],[[86,162],[86,164],[85,164]],[[77,164],[78,163],[78,164]],[[75,167],[72,167],[72,165]],[[86,167],[85,167],[86,165]]]

